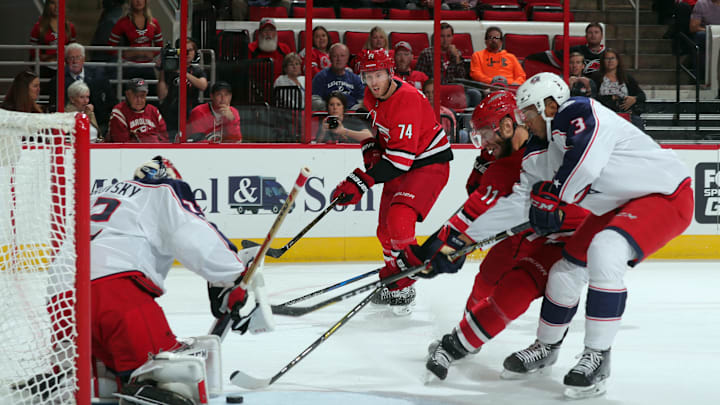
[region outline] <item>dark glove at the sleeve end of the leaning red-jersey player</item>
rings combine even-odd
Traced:
[[[465,256],[450,260],[448,254],[465,247],[467,242],[460,238],[461,235],[460,231],[450,225],[432,234],[422,245],[426,257],[430,258],[430,269],[421,271],[418,276],[433,278],[440,273],[457,273],[465,264]]]

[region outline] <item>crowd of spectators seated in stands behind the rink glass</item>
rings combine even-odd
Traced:
[[[163,46],[163,31],[158,20],[152,16],[148,2],[153,0],[104,0],[104,12],[101,23],[93,37],[93,44],[145,47]],[[211,0],[206,0],[211,1]],[[693,1],[693,0],[690,0]],[[225,13],[228,18],[246,19],[249,11],[257,7],[280,7],[288,13],[299,12],[291,8],[287,0],[216,0],[219,17]],[[337,13],[342,7],[366,6],[382,10],[383,16],[390,10],[428,10],[432,11],[432,2],[426,0],[366,0],[365,2],[345,2],[340,0],[317,0],[316,11],[323,7]],[[396,4],[397,3],[397,4]],[[660,3],[660,1],[658,1]],[[125,8],[122,6],[125,4]],[[685,6],[683,6],[684,4]],[[293,6],[294,7],[294,6]],[[45,0],[44,9],[30,34],[30,43],[37,45],[57,44],[58,10],[57,0]],[[443,10],[479,11],[482,3],[471,0],[445,0]],[[678,3],[673,10],[687,10],[687,32],[694,33],[696,40],[704,38],[707,24],[720,23],[720,1],[699,0],[694,8],[689,3]],[[126,11],[119,11],[126,10]],[[225,11],[223,11],[225,10]],[[293,11],[294,10],[294,11]],[[692,11],[689,11],[692,10]],[[304,9],[303,9],[304,12]],[[287,14],[290,15],[290,14]],[[464,139],[464,127],[461,115],[467,114],[480,103],[487,92],[498,88],[514,89],[527,77],[536,73],[526,71],[528,63],[539,63],[544,70],[561,71],[564,64],[570,67],[569,84],[573,95],[593,97],[599,102],[626,116],[638,127],[643,128],[642,108],[646,99],[644,92],[634,77],[623,68],[620,55],[603,46],[603,28],[591,23],[585,30],[585,43],[571,47],[568,60],[563,52],[547,49],[542,52],[516,55],[506,49],[506,36],[499,27],[489,27],[485,32],[485,47],[473,50],[472,44],[460,46],[455,42],[457,35],[453,26],[442,22],[440,26],[440,89],[433,89],[434,49],[428,36],[415,41],[396,33],[388,33],[379,26],[367,33],[357,33],[362,42],[348,40],[348,33],[340,41],[337,32],[329,32],[322,26],[312,31],[312,49],[308,52],[299,42],[295,52],[295,39],[287,43],[279,33],[272,17],[258,18],[254,40],[248,40],[248,60],[270,60],[270,76],[266,78],[268,88],[273,91],[266,94],[266,100],[278,94],[291,94],[293,101],[283,107],[295,110],[305,108],[305,87],[307,80],[312,81],[312,105],[316,111],[318,123],[313,129],[315,142],[353,142],[357,132],[369,131],[370,126],[362,118],[366,112],[363,106],[364,84],[358,74],[355,60],[360,52],[385,49],[395,61],[396,80],[402,80],[426,94],[432,101],[441,100],[441,115],[446,132],[454,140]],[[111,28],[109,28],[111,27]],[[109,78],[116,72],[112,68],[99,68],[85,65],[85,48],[76,42],[74,25],[66,22],[65,47],[65,102],[66,111],[84,112],[91,118],[93,140],[104,142],[177,142],[179,141],[179,83],[177,70],[165,70],[160,64],[158,51],[123,51],[124,99],[118,100]],[[290,31],[292,32],[292,31]],[[301,33],[302,38],[304,32]],[[392,39],[392,41],[391,41]],[[407,39],[407,40],[405,40]],[[507,44],[510,42],[508,41]],[[362,44],[362,46],[360,46]],[[179,48],[179,40],[175,47]],[[219,76],[215,83],[208,80],[209,72],[198,66],[198,43],[192,38],[187,42],[187,103],[185,118],[188,142],[241,142],[240,113],[233,105],[241,103],[240,97],[233,102],[233,90],[237,78]],[[96,52],[97,53],[97,52]],[[703,52],[704,55],[704,52]],[[35,57],[34,54],[31,55]],[[310,57],[311,71],[305,72],[305,57]],[[55,61],[55,50],[39,51],[41,61]],[[107,61],[117,58],[111,52],[93,55],[93,60]],[[534,65],[535,66],[535,65]],[[57,109],[57,72],[52,66],[43,66],[40,77],[50,78],[45,89],[35,90],[38,77],[29,72],[18,74],[13,86],[5,97],[3,108],[18,111],[39,112]],[[225,81],[227,80],[227,82]],[[154,85],[157,81],[157,86]],[[450,85],[459,85],[464,93],[459,104],[447,102]],[[45,87],[45,86],[40,86]],[[38,94],[50,96],[50,103],[41,107]],[[152,101],[148,102],[148,96]],[[210,99],[201,103],[202,96]],[[157,102],[155,102],[157,98]],[[275,106],[279,106],[275,103]],[[293,120],[297,121],[295,115]],[[328,122],[329,120],[329,122]],[[296,124],[295,130],[299,131]]]

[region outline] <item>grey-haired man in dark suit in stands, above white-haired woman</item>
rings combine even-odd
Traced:
[[[65,47],[65,102],[68,98],[68,87],[75,81],[83,81],[90,88],[90,104],[95,108],[96,117],[100,117],[99,128],[106,128],[110,119],[110,111],[117,104],[117,98],[110,82],[102,69],[85,66],[85,47],[73,42]],[[57,77],[50,81],[50,104],[57,106]],[[51,108],[55,110],[55,108]],[[102,131],[101,131],[102,132]]]

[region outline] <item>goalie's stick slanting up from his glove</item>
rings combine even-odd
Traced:
[[[292,208],[292,205],[295,202],[295,198],[297,197],[298,193],[300,193],[300,189],[305,185],[305,182],[307,181],[309,176],[310,169],[308,169],[307,167],[303,167],[302,169],[300,169],[300,174],[298,174],[298,177],[295,180],[295,184],[293,185],[292,190],[290,190],[290,193],[285,200],[285,204],[283,204],[283,206],[280,208],[277,217],[275,217],[275,222],[273,222],[267,236],[265,237],[265,240],[262,243],[262,246],[260,246],[260,249],[255,255],[255,259],[252,263],[250,263],[250,267],[245,272],[242,281],[240,281],[240,285],[242,286],[242,288],[247,289],[248,285],[250,285],[252,276],[253,274],[255,274],[255,269],[257,269],[260,263],[263,262],[265,258],[265,252],[267,252],[267,250],[270,248],[270,243],[272,243],[273,239],[275,238],[275,234],[277,233],[278,229],[280,229],[280,225],[282,225],[287,214],[290,212],[290,208]],[[219,336],[220,340],[224,339],[230,326],[230,319],[230,314],[225,314],[222,318],[216,319],[215,322],[213,322],[213,325],[210,327],[210,334]]]

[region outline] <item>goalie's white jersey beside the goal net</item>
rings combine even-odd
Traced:
[[[245,270],[182,180],[122,181],[94,193],[91,204],[92,280],[140,271],[165,291],[174,259],[210,282],[234,282]]]

